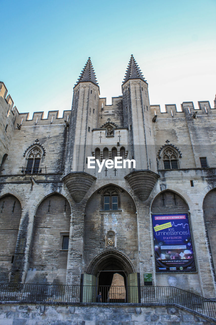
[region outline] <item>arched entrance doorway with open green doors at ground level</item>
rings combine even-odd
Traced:
[[[104,251],[90,263],[87,273],[81,275],[82,302],[95,302],[99,292],[102,302],[139,302],[139,273],[135,273],[124,254],[112,249]]]

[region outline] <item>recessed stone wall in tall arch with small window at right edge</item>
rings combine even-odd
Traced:
[[[59,194],[39,205],[26,283],[65,284],[67,250],[62,249],[62,240],[70,232],[70,214],[69,202]]]

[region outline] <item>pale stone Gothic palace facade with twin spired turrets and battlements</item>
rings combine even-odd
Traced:
[[[0,281],[100,285],[152,273],[153,285],[215,296],[216,105],[150,105],[131,56],[122,96],[100,98],[88,59],[72,109],[19,113],[0,83]],[[88,157],[123,157],[99,172]],[[188,213],[196,272],[155,272],[152,214]],[[104,273],[102,273],[102,271]],[[117,271],[117,272],[116,272]]]

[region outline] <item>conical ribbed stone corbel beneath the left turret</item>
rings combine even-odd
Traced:
[[[96,177],[85,172],[72,172],[63,177],[63,182],[66,185],[72,199],[79,203],[92,186]]]

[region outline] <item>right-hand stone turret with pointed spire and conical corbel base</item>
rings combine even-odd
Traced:
[[[141,201],[146,201],[157,179],[157,163],[148,84],[131,55],[122,85],[124,126],[128,128],[130,159],[136,170],[125,178]]]

